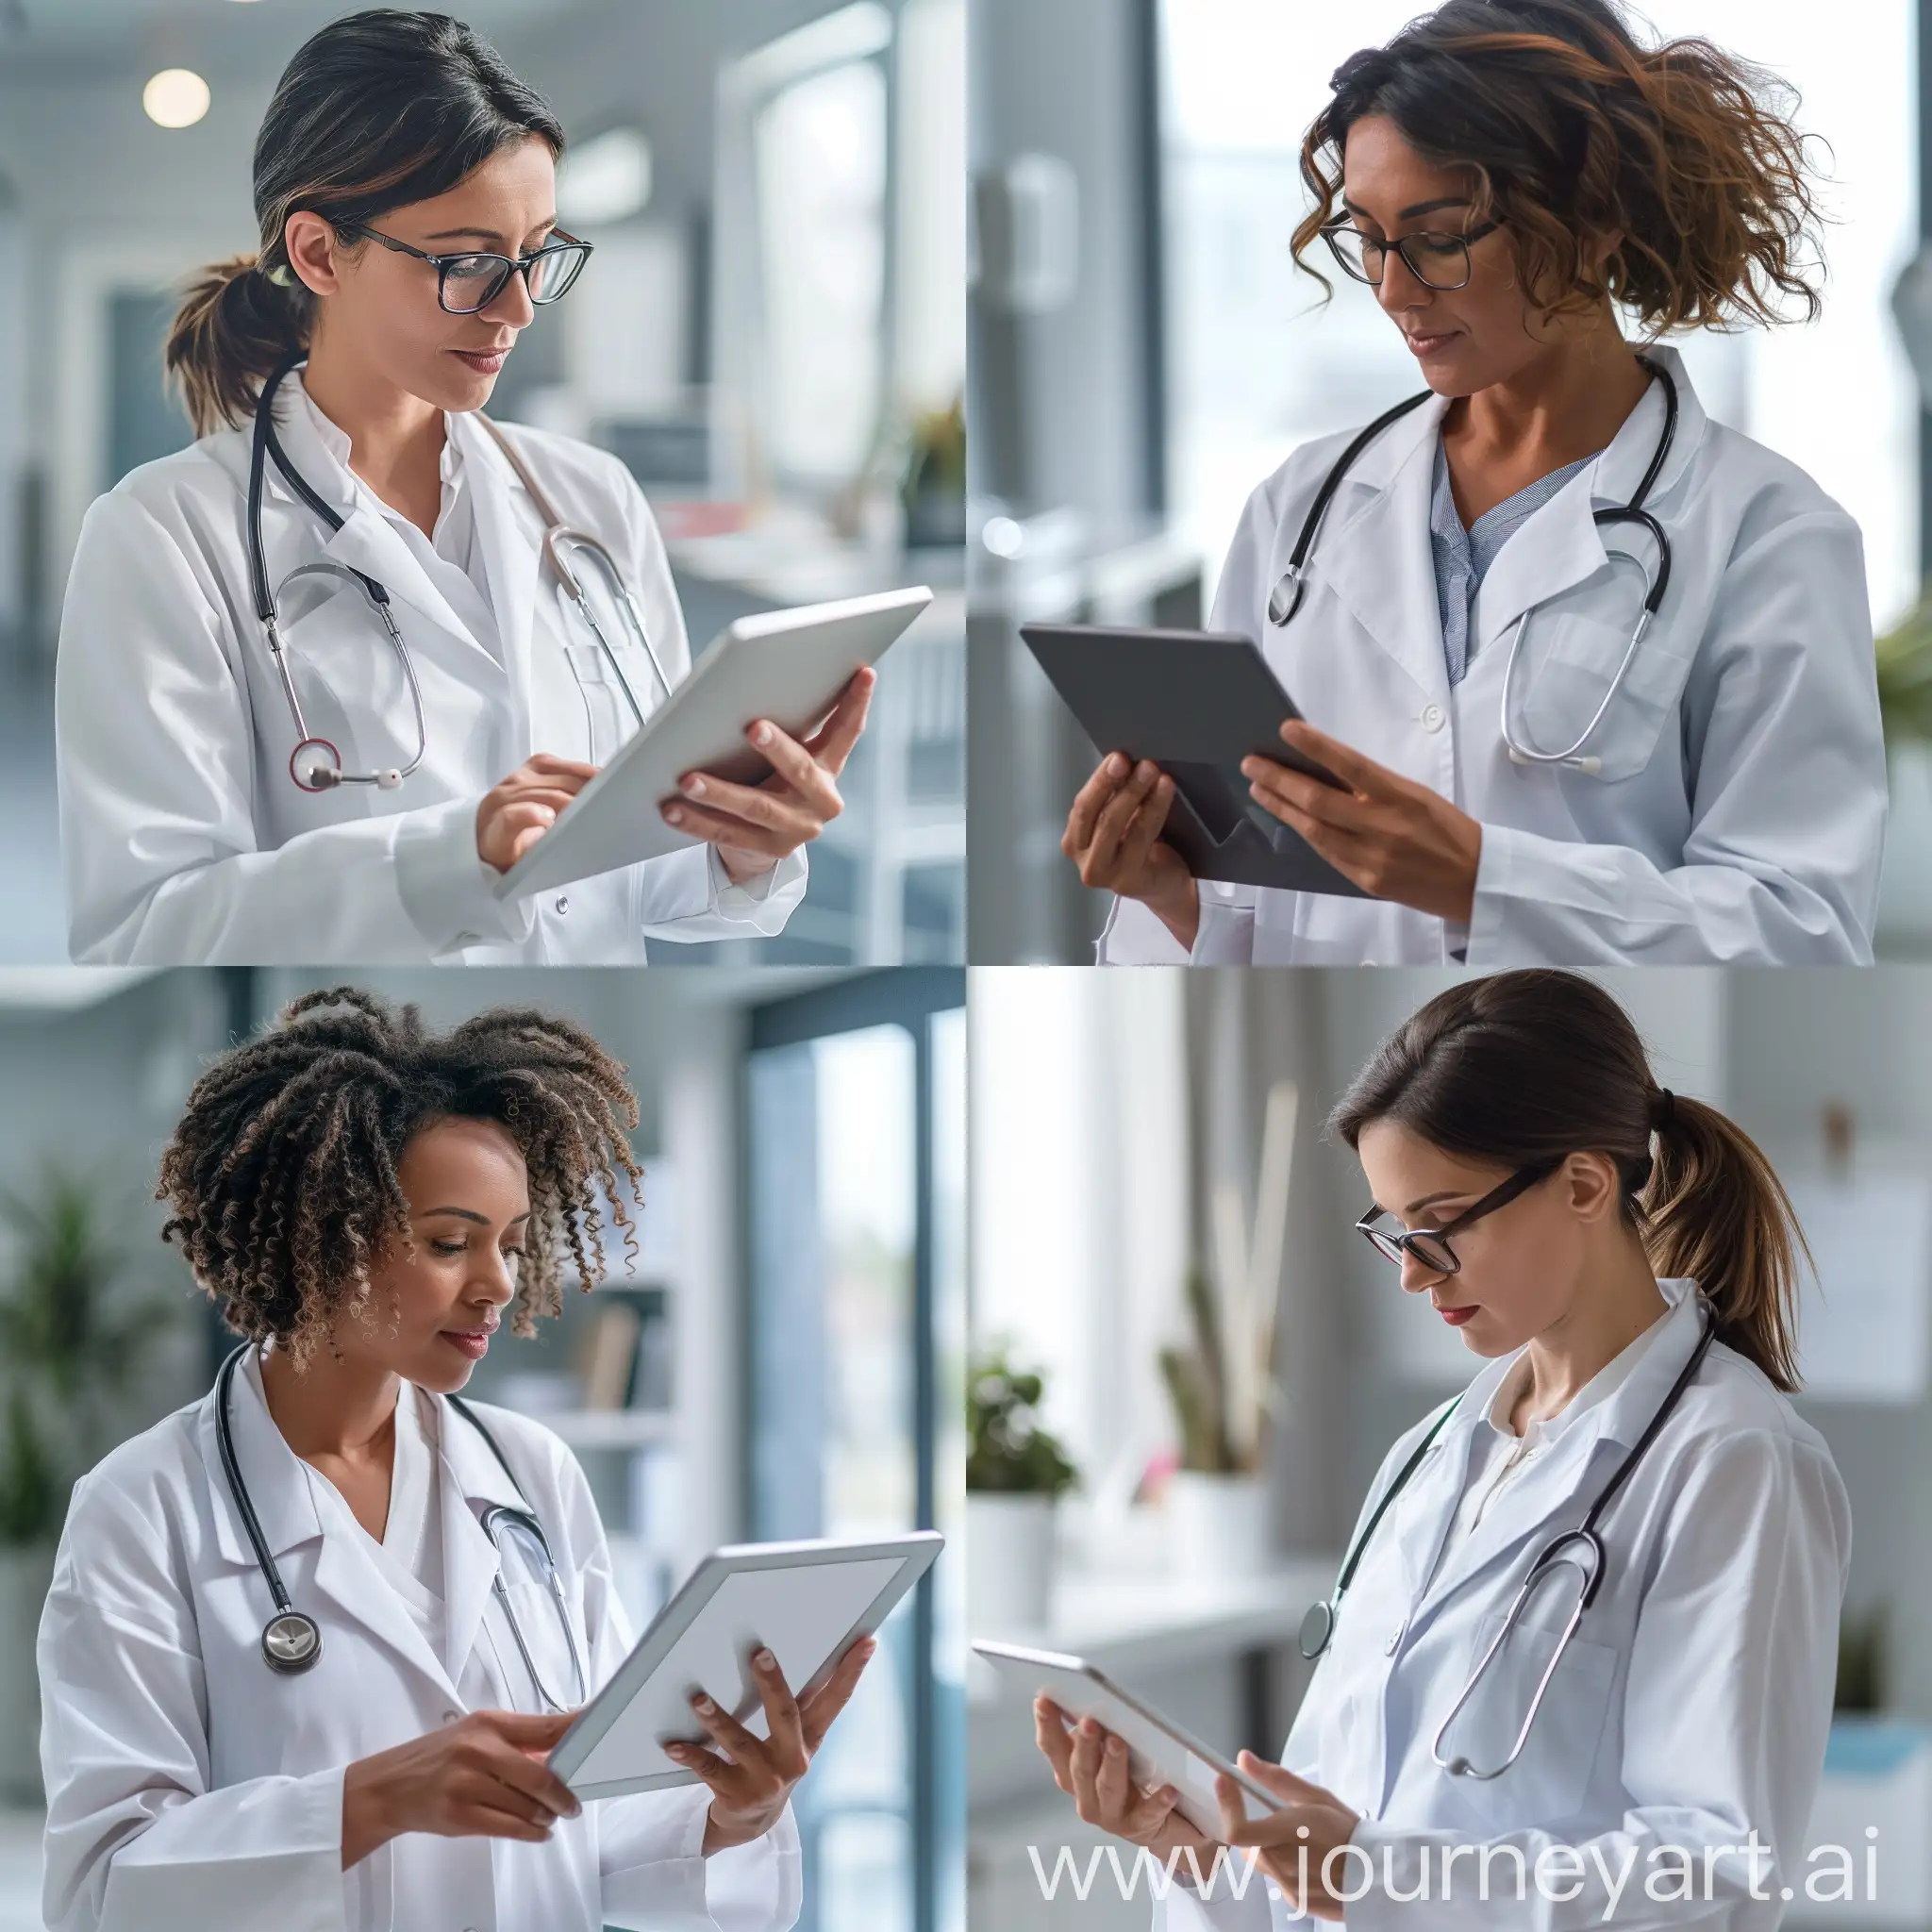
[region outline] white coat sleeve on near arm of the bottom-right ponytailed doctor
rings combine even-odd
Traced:
[[[1360,1857],[1337,1864],[1349,1891],[1372,1874],[1347,1907],[1352,1932],[1772,1932],[1781,1889],[1804,1895],[1849,1557],[1845,1488],[1824,1451],[1766,1430],[1696,1451],[1631,1648],[1621,1830],[1505,1832],[1488,1845],[1482,1899],[1474,1853],[1451,1864],[1445,1893],[1455,1833],[1364,1818]],[[1520,1899],[1511,1847],[1528,1874]]]

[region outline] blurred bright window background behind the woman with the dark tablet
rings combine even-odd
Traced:
[[[1300,442],[1416,388],[1374,292],[1294,269],[1296,156],[1327,77],[1418,0],[974,0],[972,854],[968,956],[1088,960],[1105,900],[1059,837],[1094,753],[1018,624],[1196,626],[1240,506]],[[1918,0],[1644,0],[1658,35],[1772,68],[1820,139],[1830,269],[1808,327],[1673,338],[1706,412],[1803,464],[1864,531],[1872,618],[1922,645],[1932,437],[1905,334],[1932,193]],[[1325,255],[1325,251],[1323,251]],[[1922,269],[1924,265],[1920,265]],[[1888,697],[1893,694],[1888,692]],[[1880,956],[1932,954],[1932,717],[1888,705]]]

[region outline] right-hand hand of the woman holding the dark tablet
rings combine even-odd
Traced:
[[[1264,811],[1300,833],[1370,898],[1468,923],[1482,860],[1478,819],[1300,719],[1283,724],[1281,738],[1333,771],[1345,790],[1269,757],[1244,757],[1242,777]]]

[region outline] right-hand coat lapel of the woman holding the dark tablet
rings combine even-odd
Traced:
[[[1667,495],[1689,464],[1704,435],[1704,412],[1677,350],[1646,354],[1652,361],[1663,363],[1677,381],[1677,435],[1671,439],[1671,454],[1658,471],[1658,481],[1644,498],[1650,508]],[[1634,556],[1646,568],[1656,566],[1656,545],[1638,526],[1611,524],[1602,529],[1596,510],[1627,504],[1636,495],[1636,485],[1642,483],[1663,435],[1663,384],[1652,383],[1604,454],[1511,533],[1476,591],[1472,638],[1478,651],[1503,638],[1524,611],[1594,576],[1613,553]],[[1629,578],[1631,583],[1627,601],[1634,624],[1642,601],[1636,572],[1631,564],[1619,564],[1617,570],[1619,578]],[[1534,620],[1530,628],[1534,632]]]

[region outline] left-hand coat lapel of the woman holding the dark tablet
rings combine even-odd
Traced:
[[[1316,531],[1308,574],[1335,591],[1416,690],[1447,705],[1430,551],[1430,485],[1445,408],[1447,398],[1432,396],[1362,450]]]

